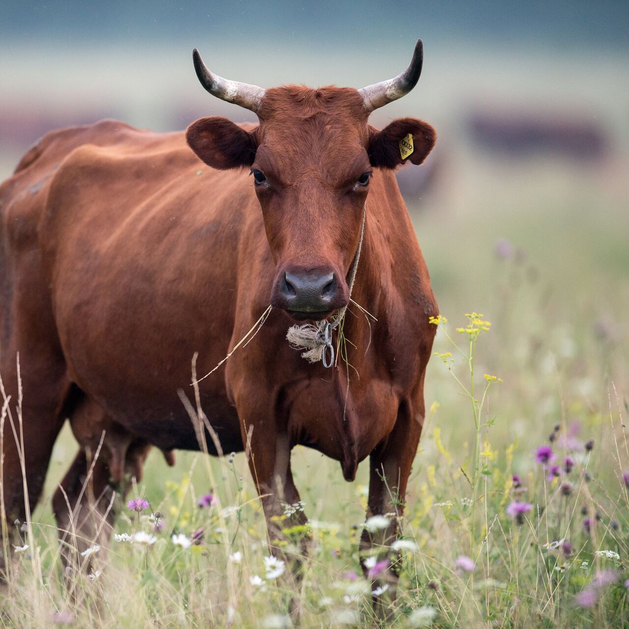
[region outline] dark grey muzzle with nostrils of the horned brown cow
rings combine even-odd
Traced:
[[[297,321],[319,321],[347,304],[347,287],[330,268],[286,269],[274,282],[271,303]]]

